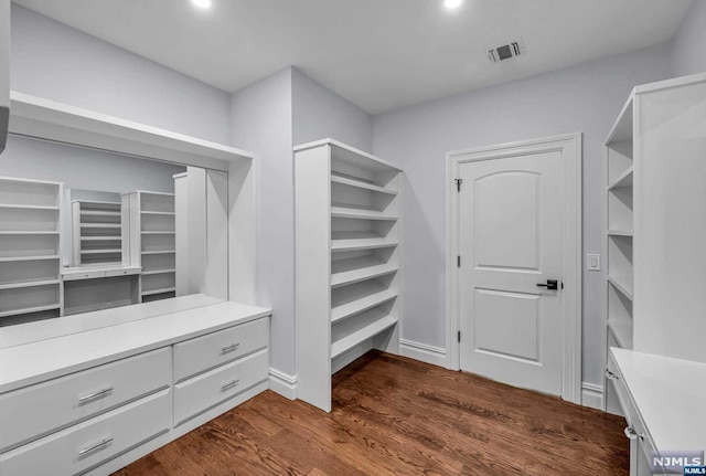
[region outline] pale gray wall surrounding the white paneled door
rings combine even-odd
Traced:
[[[632,87],[670,77],[668,46],[375,117],[374,154],[404,168],[404,339],[446,347],[446,152],[584,133],[584,255],[601,253],[603,140]],[[600,383],[602,276],[584,272],[584,381]]]

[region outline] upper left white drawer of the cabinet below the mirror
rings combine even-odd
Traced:
[[[163,348],[0,395],[0,452],[171,385]]]

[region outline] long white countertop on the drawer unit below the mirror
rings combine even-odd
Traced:
[[[203,298],[205,296],[201,297],[201,299]],[[168,299],[160,303],[164,308],[170,305],[168,302],[171,300],[173,306],[173,302],[178,299]],[[199,298],[194,299],[199,300]],[[271,314],[270,309],[263,307],[218,302],[216,299],[215,304],[203,305],[188,310],[136,318],[139,310],[143,311],[140,308],[145,306],[148,306],[148,304],[54,319],[57,325],[63,319],[78,319],[74,322],[75,328],[86,328],[94,324],[94,315],[108,311],[122,313],[121,322],[119,315],[114,316],[110,314],[108,316],[110,318],[104,316],[106,322],[113,322],[108,324],[107,327],[101,326],[79,330],[60,337],[50,337],[0,349],[0,393],[170,346],[192,337]],[[133,313],[133,308],[138,313]],[[21,326],[28,325],[15,327]],[[13,328],[11,329],[14,330]]]

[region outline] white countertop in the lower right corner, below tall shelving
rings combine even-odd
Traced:
[[[706,363],[610,349],[656,451],[706,451]]]

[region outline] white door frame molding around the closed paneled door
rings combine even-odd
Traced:
[[[493,160],[526,154],[541,154],[560,150],[567,159],[561,187],[566,197],[563,208],[561,257],[564,292],[561,293],[563,351],[561,351],[561,398],[577,404],[581,403],[581,282],[582,282],[582,136],[581,133],[521,140],[480,148],[447,152],[447,262],[446,262],[446,328],[447,328],[447,368],[460,370],[460,342],[457,332],[460,329],[459,306],[459,194],[454,178],[458,167],[464,162]],[[461,184],[462,187],[462,184]]]

